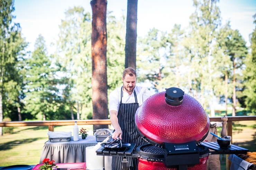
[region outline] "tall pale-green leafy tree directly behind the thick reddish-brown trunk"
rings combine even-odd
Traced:
[[[91,16],[82,7],[66,12],[60,26],[55,58],[63,75],[59,81],[63,88],[64,103],[70,103],[74,111],[81,106],[81,119],[91,119]],[[118,30],[118,31],[117,31]],[[107,18],[107,75],[108,92],[121,84],[124,69],[125,20],[117,21],[108,13]]]

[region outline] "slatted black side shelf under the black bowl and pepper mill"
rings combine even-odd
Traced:
[[[234,144],[231,144],[231,146],[227,147],[226,149],[220,148],[217,142],[201,142],[200,145],[214,150],[210,151],[210,154],[246,154],[249,151],[248,149],[241,148]]]

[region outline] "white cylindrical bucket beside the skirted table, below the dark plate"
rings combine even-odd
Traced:
[[[104,156],[98,156],[97,147],[86,147],[86,169],[102,170],[104,168]]]

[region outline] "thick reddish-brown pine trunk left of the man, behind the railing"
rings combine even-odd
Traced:
[[[92,0],[92,108],[93,119],[108,118],[107,1]],[[108,128],[93,125],[93,130]]]

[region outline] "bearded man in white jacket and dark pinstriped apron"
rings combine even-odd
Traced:
[[[133,68],[123,71],[123,86],[109,94],[109,114],[115,131],[113,139],[118,137],[122,142],[135,143],[136,146],[146,144],[135,129],[135,113],[139,106],[154,93],[146,87],[136,86],[137,74]],[[137,170],[138,159],[127,158],[128,165],[122,164],[123,157],[112,157],[112,170]]]

